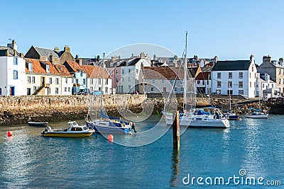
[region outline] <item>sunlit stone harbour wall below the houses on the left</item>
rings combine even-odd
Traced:
[[[104,108],[113,110],[110,114],[115,115],[116,107],[138,107],[145,98],[143,95],[105,95]],[[100,108],[100,96],[1,96],[0,125],[84,119],[89,107]]]

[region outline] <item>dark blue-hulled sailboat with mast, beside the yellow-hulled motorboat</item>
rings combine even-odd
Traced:
[[[102,62],[102,79],[104,79],[104,59]],[[101,118],[96,120],[91,120],[87,116],[85,122],[89,129],[94,129],[95,132],[99,133],[123,133],[132,134],[131,130],[136,133],[135,123],[124,122],[120,118],[114,118],[106,115],[103,110],[103,98],[104,98],[104,81],[102,81],[102,94],[101,94]]]

